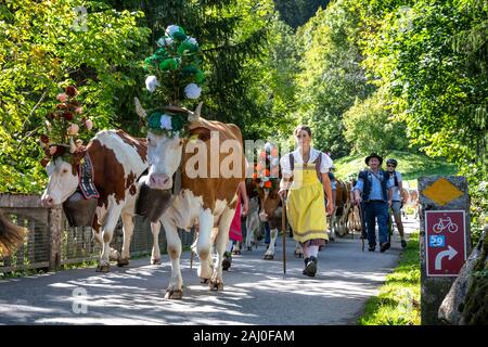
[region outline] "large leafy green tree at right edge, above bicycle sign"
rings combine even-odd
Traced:
[[[467,176],[474,220],[485,222],[488,3],[388,1],[382,8],[361,2],[368,24],[364,66],[387,91],[391,113],[406,121],[413,143]]]

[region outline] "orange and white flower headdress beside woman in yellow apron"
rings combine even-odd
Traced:
[[[280,185],[280,159],[278,147],[266,143],[259,154],[253,181],[261,189],[277,189]]]

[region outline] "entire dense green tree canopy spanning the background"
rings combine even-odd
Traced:
[[[275,142],[307,123],[333,158],[410,149],[447,159],[468,177],[483,222],[486,1],[105,0],[82,2],[86,14],[80,4],[0,3],[1,192],[46,183],[37,138],[67,85],[95,128],[139,134],[143,59],[179,24],[201,42],[208,118]]]

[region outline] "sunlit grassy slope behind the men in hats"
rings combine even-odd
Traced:
[[[337,160],[334,160],[336,167],[336,176],[341,179],[349,177],[357,177],[359,170],[365,167],[365,155],[350,155]],[[444,159],[433,159],[420,153],[409,153],[393,151],[385,154],[383,167],[386,166],[387,158],[396,158],[398,160],[398,171],[401,172],[403,180],[409,182],[411,189],[416,189],[416,179],[421,176],[454,175],[457,168],[454,165],[447,163]]]

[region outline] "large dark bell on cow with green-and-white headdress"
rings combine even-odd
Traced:
[[[157,222],[163,214],[171,206],[174,196],[171,190],[151,189],[142,183],[136,201],[136,214]]]

